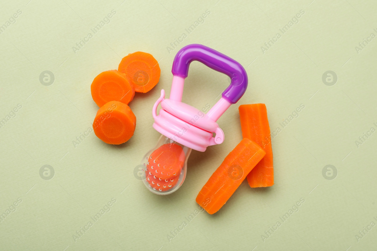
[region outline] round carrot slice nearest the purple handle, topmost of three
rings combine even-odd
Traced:
[[[161,73],[157,60],[146,52],[134,52],[125,56],[119,64],[118,71],[125,73],[135,91],[141,93],[155,87]]]

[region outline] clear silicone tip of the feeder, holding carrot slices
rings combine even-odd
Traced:
[[[186,178],[190,153],[191,148],[161,135],[141,160],[142,181],[147,189],[159,195],[175,192]]]

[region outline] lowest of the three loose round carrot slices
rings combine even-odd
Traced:
[[[119,145],[129,140],[135,131],[136,117],[130,107],[119,101],[110,101],[97,111],[93,130],[100,140]]]

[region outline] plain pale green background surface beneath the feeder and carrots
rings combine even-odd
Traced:
[[[0,118],[18,104],[17,116],[0,129],[0,212],[17,200],[17,210],[0,223],[0,250],[374,250],[377,226],[357,242],[355,235],[377,223],[377,135],[357,148],[355,141],[377,122],[375,102],[377,4],[356,0],[240,1],[2,1],[0,24],[22,14],[0,34]],[[104,3],[106,2],[106,3]],[[116,14],[76,52],[84,38],[112,9]],[[185,28],[209,10],[205,22],[170,54],[166,49]],[[261,46],[300,10],[305,14],[271,49]],[[218,120],[221,145],[193,151],[182,187],[168,196],[149,192],[133,175],[159,134],[152,128],[152,106],[162,88],[170,93],[175,53],[201,43],[240,62],[248,90]],[[116,69],[121,57],[145,51],[159,61],[159,84],[130,103],[136,131],[112,146],[91,133],[98,110],[90,84],[101,71]],[[42,71],[55,75],[51,86]],[[332,70],[338,81],[322,82]],[[225,75],[193,62],[183,102],[213,106],[227,87]],[[314,94],[314,96],[313,96]],[[265,103],[271,129],[300,104],[299,117],[273,139],[275,185],[251,189],[244,181],[215,215],[199,213],[170,242],[167,234],[198,209],[196,195],[241,140],[238,106]],[[41,166],[54,167],[43,180]],[[338,175],[326,180],[322,169]],[[127,187],[126,190],[124,190]],[[314,189],[315,188],[315,189]],[[314,189],[314,190],[313,190]],[[111,211],[74,242],[111,198]],[[296,201],[299,207],[265,242],[261,235]]]

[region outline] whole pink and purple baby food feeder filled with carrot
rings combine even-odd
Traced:
[[[181,102],[189,65],[195,60],[231,78],[231,84],[207,114]],[[173,61],[172,73],[169,99],[161,90],[161,96],[152,110],[155,119],[153,128],[162,135],[141,162],[144,166],[144,184],[159,195],[175,192],[182,185],[191,149],[204,152],[208,146],[224,141],[224,132],[216,121],[242,97],[248,83],[247,73],[241,64],[201,44],[190,44],[179,50]],[[157,115],[159,103],[162,108]]]

